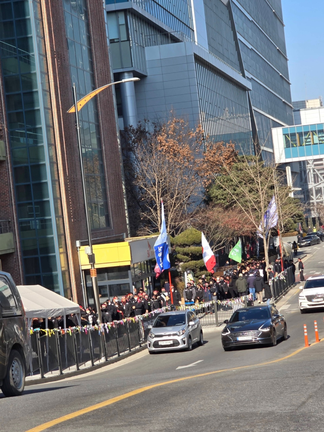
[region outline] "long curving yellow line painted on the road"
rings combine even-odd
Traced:
[[[324,341],[324,339],[322,339],[322,340]],[[265,366],[265,365],[270,365],[272,363],[282,362],[283,360],[287,360],[291,357],[296,356],[296,354],[298,354],[300,351],[302,351],[305,348],[308,348],[308,347],[303,346],[302,348],[296,349],[296,351],[292,352],[292,354],[289,354],[288,356],[281,357],[281,359],[277,359],[277,360],[271,360],[269,362],[257,363],[255,365],[238,366],[237,368],[221,369],[221,370],[212,371],[212,372],[205,372],[205,373],[201,373],[201,374],[197,374],[197,375],[186,376],[183,378],[176,378],[176,379],[172,379],[170,381],[159,382],[157,384],[152,384],[152,385],[147,385],[145,387],[137,388],[136,390],[129,391],[128,393],[125,393],[124,395],[116,396],[115,398],[108,399],[107,401],[100,402],[99,404],[95,404],[95,405],[92,405],[90,407],[83,408],[82,410],[78,410],[78,411],[72,412],[70,414],[63,415],[62,417],[58,417],[55,420],[51,420],[51,421],[48,421],[46,423],[40,424],[39,426],[36,426],[36,427],[33,427],[32,429],[26,430],[26,432],[42,432],[43,430],[48,429],[49,427],[55,426],[56,424],[63,423],[64,421],[71,420],[72,418],[78,417],[78,416],[83,415],[83,414],[87,414],[91,411],[95,411],[95,410],[98,410],[100,408],[107,407],[108,405],[112,405],[115,402],[119,402],[119,401],[122,401],[123,399],[130,398],[131,396],[139,395],[140,393],[143,393],[144,391],[147,391],[147,390],[151,390],[152,388],[161,387],[161,386],[167,385],[167,384],[173,384],[175,382],[186,381],[187,379],[200,378],[203,376],[214,375],[214,374],[217,374],[220,372],[229,372],[229,371],[234,371],[234,370],[236,371],[238,369],[248,369],[248,368],[253,368],[253,367],[257,367],[257,366]]]

